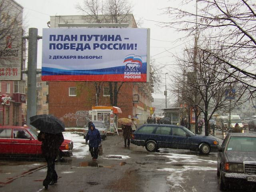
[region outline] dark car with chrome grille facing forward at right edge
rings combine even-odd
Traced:
[[[218,147],[217,176],[220,190],[256,186],[256,135],[228,133]]]

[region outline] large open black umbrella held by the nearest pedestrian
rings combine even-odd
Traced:
[[[50,134],[57,134],[65,131],[65,125],[61,120],[47,114],[30,117],[30,124],[40,131]]]

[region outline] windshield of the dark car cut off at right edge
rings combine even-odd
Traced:
[[[231,137],[226,151],[256,152],[256,137]]]

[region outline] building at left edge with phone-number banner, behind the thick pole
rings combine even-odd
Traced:
[[[3,76],[17,76],[17,68],[13,68],[12,65],[17,61],[20,62],[19,68],[24,69],[25,65],[25,43],[22,44],[22,13],[23,7],[14,0],[0,0],[1,7],[1,25],[12,26],[10,34],[6,32],[6,37],[1,37],[0,41],[0,63],[5,63],[7,58],[8,69],[0,69]],[[2,4],[3,3],[3,4]],[[18,23],[18,26],[12,24],[12,22]],[[4,27],[4,26],[0,26]],[[6,30],[7,31],[7,30]],[[3,34],[1,34],[3,35]],[[13,39],[14,41],[9,41]],[[4,41],[4,42],[3,42]],[[16,42],[22,44],[23,51],[19,47],[17,48]],[[16,46],[16,47],[15,47]],[[7,53],[7,54],[6,54]],[[13,63],[12,63],[13,62]],[[4,66],[6,67],[6,66]],[[12,73],[12,74],[11,74]],[[25,80],[17,76],[19,81],[1,80],[0,81],[0,125],[21,126],[24,124],[24,112],[22,110],[22,103],[26,103],[25,96]]]

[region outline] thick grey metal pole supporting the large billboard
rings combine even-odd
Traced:
[[[37,28],[28,30],[28,92],[27,92],[27,117],[26,123],[30,125],[30,117],[36,115],[36,68],[37,68]]]

